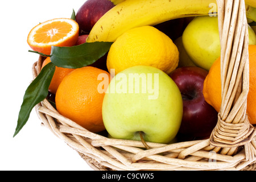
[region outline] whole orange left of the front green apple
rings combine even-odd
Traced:
[[[57,111],[93,133],[105,130],[102,102],[109,82],[110,74],[102,69],[76,69],[64,77],[57,89]]]

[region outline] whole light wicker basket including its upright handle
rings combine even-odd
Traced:
[[[226,3],[225,3],[226,2]],[[60,115],[45,99],[36,106],[42,125],[76,150],[94,170],[256,169],[256,130],[246,115],[248,32],[243,0],[217,1],[221,40],[222,105],[209,139],[174,144],[109,139]],[[33,65],[39,74],[43,57]]]

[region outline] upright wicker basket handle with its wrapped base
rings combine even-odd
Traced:
[[[210,136],[210,144],[216,147],[238,147],[249,144],[251,140],[255,140],[256,135],[246,113],[249,92],[249,36],[245,2],[217,0],[217,7],[222,101],[217,125]]]

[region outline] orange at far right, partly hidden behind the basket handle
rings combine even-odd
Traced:
[[[256,124],[256,46],[249,45],[249,93],[247,95],[247,115],[251,124]],[[203,94],[205,101],[214,109],[220,111],[221,107],[221,68],[220,57],[214,61],[204,81]]]

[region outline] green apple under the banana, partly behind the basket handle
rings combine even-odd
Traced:
[[[256,35],[248,26],[249,44],[256,44]],[[221,46],[217,16],[197,16],[183,32],[183,45],[191,60],[209,71],[213,62],[220,57]]]

